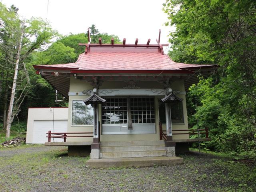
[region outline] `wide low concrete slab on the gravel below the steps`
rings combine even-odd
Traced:
[[[148,167],[154,165],[182,164],[180,157],[139,157],[139,158],[102,158],[89,159],[86,167],[109,168],[109,167]]]

